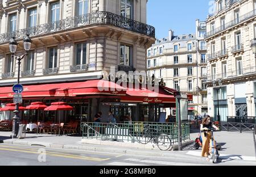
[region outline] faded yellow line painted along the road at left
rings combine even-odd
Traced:
[[[21,150],[21,149],[8,149],[8,148],[1,148],[0,150],[5,150],[5,151],[16,151],[16,152],[21,152],[21,153],[30,153],[30,154],[40,154],[37,150]],[[63,154],[63,153],[51,153],[51,152],[46,152],[46,155],[50,156],[55,156],[55,157],[63,157],[63,158],[73,158],[73,159],[81,159],[85,161],[96,161],[96,162],[102,162],[102,161],[107,161],[110,158],[96,158],[96,157],[85,157],[81,155],[72,155],[72,154]]]

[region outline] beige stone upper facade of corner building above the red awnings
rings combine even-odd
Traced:
[[[88,7],[82,15],[78,15],[79,2],[86,3],[84,9]],[[34,62],[31,71],[27,70],[27,58],[22,60],[22,83],[101,78],[102,71],[109,71],[110,66],[118,70],[118,65],[122,65],[121,45],[130,49],[131,61],[126,66],[146,70],[146,49],[155,41],[155,29],[146,25],[147,0],[129,2],[131,15],[125,18],[119,0],[3,1],[0,10],[0,86],[16,82],[18,64],[14,61],[12,69],[8,66],[9,40],[16,37],[19,43],[16,55],[22,54],[26,33],[32,39]],[[53,14],[55,7],[59,9],[56,21],[51,19],[54,15],[56,18]],[[31,9],[36,14],[34,26],[30,26]],[[83,65],[76,64],[76,49],[80,43],[86,45]],[[51,48],[56,49],[54,60],[57,62],[49,68],[49,62],[54,62],[50,58]]]

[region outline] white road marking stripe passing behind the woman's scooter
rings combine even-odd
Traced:
[[[201,156],[200,151],[192,151],[189,150],[186,154],[194,155],[194,156]],[[233,159],[233,160],[241,160],[241,161],[256,161],[255,157],[252,156],[243,156],[243,155],[229,155],[229,154],[220,154],[219,159]]]

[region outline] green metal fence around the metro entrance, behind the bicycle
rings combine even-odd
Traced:
[[[102,141],[138,142],[141,134],[150,125],[152,137],[158,134],[167,134],[171,139],[171,144],[178,142],[177,124],[172,123],[144,123],[125,122],[123,124],[112,123],[82,123],[82,138]],[[182,140],[190,140],[189,124],[181,125]]]

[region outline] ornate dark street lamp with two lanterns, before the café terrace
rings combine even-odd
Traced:
[[[26,37],[23,40],[23,46],[25,53],[22,56],[15,56],[14,53],[16,53],[18,43],[15,41],[15,37],[13,37],[9,43],[9,48],[11,52],[11,58],[14,60],[14,57],[16,60],[18,60],[18,81],[19,84],[19,75],[20,75],[20,64],[21,60],[24,58],[24,56],[27,56],[28,51],[31,48],[32,41],[30,39],[29,35],[26,35]],[[19,103],[15,104],[15,111],[14,111],[14,117],[13,117],[13,132],[11,134],[12,138],[16,138],[19,130]]]

